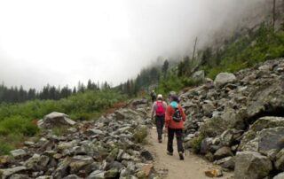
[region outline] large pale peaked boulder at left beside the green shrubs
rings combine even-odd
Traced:
[[[75,121],[69,119],[67,114],[52,112],[43,117],[43,120],[37,122],[39,128],[54,128],[60,126],[73,126]]]

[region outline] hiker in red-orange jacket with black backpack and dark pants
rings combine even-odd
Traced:
[[[185,112],[181,105],[178,104],[179,100],[176,95],[170,95],[170,105],[167,106],[165,113],[166,128],[168,129],[168,147],[167,154],[173,155],[173,140],[176,134],[177,137],[177,152],[179,160],[184,159],[184,147],[183,147],[183,128],[185,123]]]

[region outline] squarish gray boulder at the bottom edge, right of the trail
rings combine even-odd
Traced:
[[[234,177],[238,179],[259,179],[269,175],[272,162],[258,152],[237,152]]]

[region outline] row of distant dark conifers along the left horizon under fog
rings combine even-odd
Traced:
[[[110,89],[111,86],[107,82],[99,84],[99,82],[92,82],[89,80],[85,85],[83,82],[78,82],[77,87],[69,88],[64,86],[63,88],[55,87],[50,84],[43,86],[43,90],[36,91],[36,89],[24,90],[22,86],[7,87],[4,83],[0,84],[0,103],[21,103],[34,99],[53,99],[59,100],[61,98],[67,98],[76,93],[82,93],[85,90],[105,90]]]

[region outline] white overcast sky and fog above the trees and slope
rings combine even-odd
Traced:
[[[258,0],[260,1],[260,0]],[[0,0],[0,82],[116,85],[183,56],[257,0]]]

